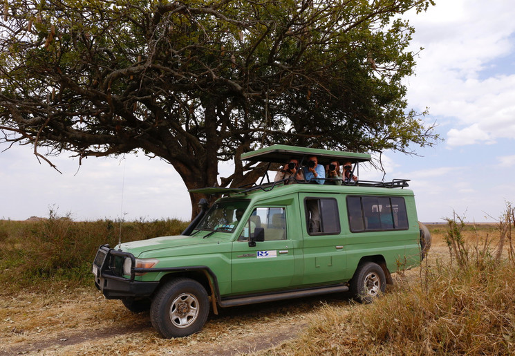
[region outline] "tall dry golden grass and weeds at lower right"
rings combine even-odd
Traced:
[[[508,206],[509,207],[509,206]],[[515,353],[515,264],[506,224],[500,236],[448,219],[449,256],[371,305],[325,306],[298,340],[270,351],[281,355],[512,355]],[[511,220],[510,220],[511,219]],[[513,226],[513,225],[510,225]],[[509,245],[498,253],[499,246]]]

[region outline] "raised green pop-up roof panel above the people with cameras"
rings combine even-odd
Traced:
[[[340,164],[344,162],[367,162],[371,160],[368,153],[352,153],[341,151],[330,151],[328,149],[310,149],[307,147],[287,146],[285,144],[274,144],[270,147],[258,149],[256,151],[243,153],[241,160],[252,162],[274,162],[284,163],[290,158],[297,158],[299,162],[304,159],[306,162],[309,156],[317,156],[321,165],[336,160]]]

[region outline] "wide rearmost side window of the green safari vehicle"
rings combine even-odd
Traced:
[[[350,231],[408,229],[404,198],[398,196],[348,196]]]

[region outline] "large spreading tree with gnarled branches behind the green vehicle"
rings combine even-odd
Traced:
[[[432,0],[15,0],[0,19],[0,143],[81,158],[142,150],[191,189],[254,182],[273,143],[348,151],[438,138],[406,109]],[[200,198],[191,194],[194,206]]]

